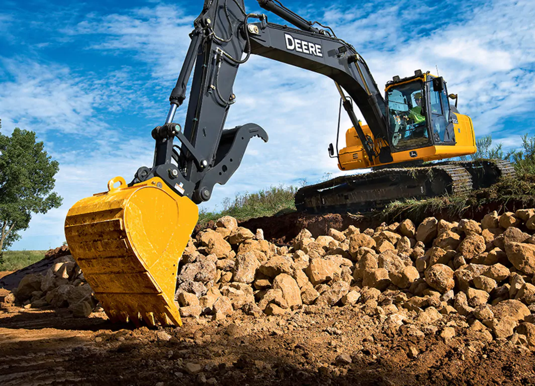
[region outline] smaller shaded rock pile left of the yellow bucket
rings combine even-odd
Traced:
[[[85,281],[80,267],[66,248],[49,251],[56,253],[44,274],[29,274],[22,278],[18,287],[4,299],[25,308],[68,307],[74,316],[89,316],[93,311],[102,311],[97,306],[93,291]]]

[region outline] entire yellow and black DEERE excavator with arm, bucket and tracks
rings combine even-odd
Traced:
[[[174,291],[197,204],[210,199],[216,183],[230,179],[251,138],[268,141],[256,123],[224,128],[238,100],[236,73],[251,55],[331,78],[353,127],[345,148],[338,151],[337,141],[335,153],[329,146],[330,156],[342,171],[373,169],[300,189],[298,210],[367,210],[400,197],[468,191],[513,173],[510,165],[492,160],[429,163],[476,152],[472,121],[456,102],[449,104],[456,96],[448,96],[443,78],[419,70],[408,78],[394,76],[383,97],[364,59],[330,27],[277,0],[257,1],[291,26],[248,13],[243,0],[205,0],[165,123],[152,130],[152,166],[140,167],[129,183],[113,178],[107,191],[81,199],[67,213],[72,256],[112,321],[181,326]],[[181,127],[173,119],[186,101],[192,72]]]

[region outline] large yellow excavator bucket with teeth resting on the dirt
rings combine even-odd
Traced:
[[[178,261],[197,219],[197,205],[158,177],[132,187],[115,177],[107,192],[73,205],[65,236],[112,321],[181,326],[174,302]]]

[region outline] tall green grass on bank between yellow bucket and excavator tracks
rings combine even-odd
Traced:
[[[204,226],[210,220],[217,220],[227,215],[244,221],[293,212],[295,211],[294,196],[296,191],[297,188],[294,186],[281,185],[256,193],[238,194],[234,199],[227,197],[223,200],[223,210],[220,212],[208,212],[201,209],[198,223]]]

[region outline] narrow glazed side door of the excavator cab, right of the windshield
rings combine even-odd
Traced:
[[[427,109],[431,122],[430,132],[435,145],[455,145],[455,131],[450,122],[446,82],[442,78],[427,76]],[[442,88],[442,89],[440,89]]]

